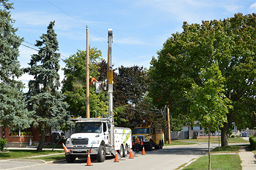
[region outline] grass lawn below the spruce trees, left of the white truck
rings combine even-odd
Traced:
[[[0,153],[0,159],[17,159],[17,158],[26,158],[34,156],[43,156],[54,153],[63,153],[64,150],[42,150],[42,152],[37,152],[36,150],[21,150],[21,149],[10,149],[8,153]],[[33,158],[34,159],[34,158]],[[52,160],[53,161],[53,160]]]

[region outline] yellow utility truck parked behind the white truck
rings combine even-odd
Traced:
[[[143,141],[143,145],[140,144],[140,149],[144,147],[147,150],[162,149],[164,146],[164,133],[161,129],[155,129],[151,120],[143,118],[143,123],[138,128],[134,128],[132,132],[132,140],[135,141],[135,137]],[[132,146],[133,149],[135,145]]]

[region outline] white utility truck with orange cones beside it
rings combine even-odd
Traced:
[[[118,128],[110,118],[77,118],[73,134],[67,139],[66,161],[73,163],[75,158],[90,157],[104,162],[107,155],[126,157],[132,148],[131,129]],[[113,129],[113,130],[112,130]]]

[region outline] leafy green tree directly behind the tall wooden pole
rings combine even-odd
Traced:
[[[101,50],[89,47],[89,75],[99,80]],[[63,94],[67,96],[68,110],[74,116],[86,117],[86,51],[78,52],[64,60]],[[105,72],[107,75],[107,72]],[[108,114],[106,93],[96,94],[95,85],[90,85],[90,116]]]

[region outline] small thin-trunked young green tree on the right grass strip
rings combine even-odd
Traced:
[[[226,114],[229,113],[229,99],[224,94],[225,78],[221,75],[217,64],[212,64],[207,69],[202,69],[200,78],[202,85],[192,84],[188,93],[191,100],[191,113],[199,120],[202,127],[208,129],[208,156],[211,169],[210,133],[218,130],[218,125],[223,127],[227,122]]]

